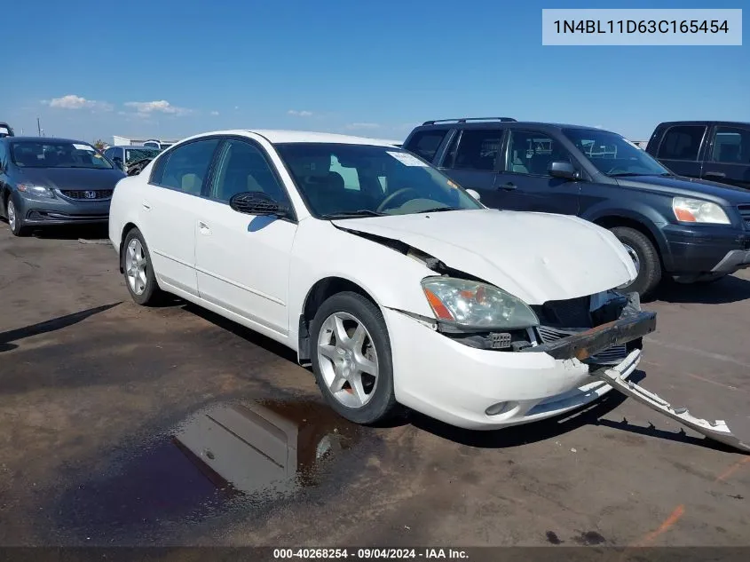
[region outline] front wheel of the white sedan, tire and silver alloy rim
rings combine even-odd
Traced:
[[[383,314],[358,293],[329,297],[311,325],[312,370],[323,398],[354,423],[377,423],[398,408],[391,340]]]

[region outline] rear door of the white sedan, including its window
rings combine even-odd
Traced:
[[[160,281],[193,295],[196,212],[201,189],[218,139],[201,139],[178,146],[157,162],[141,202],[140,223]]]

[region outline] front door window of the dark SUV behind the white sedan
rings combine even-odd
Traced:
[[[551,162],[571,162],[557,140],[533,131],[510,131],[505,170],[530,176],[549,176]]]

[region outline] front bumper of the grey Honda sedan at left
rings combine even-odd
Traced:
[[[72,201],[59,196],[47,199],[20,194],[15,198],[19,216],[27,226],[106,223],[110,201]]]

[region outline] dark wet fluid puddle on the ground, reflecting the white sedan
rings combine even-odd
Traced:
[[[155,538],[170,522],[267,508],[330,478],[363,431],[312,400],[204,408],[106,476],[68,489],[56,526],[77,540],[117,542]]]

